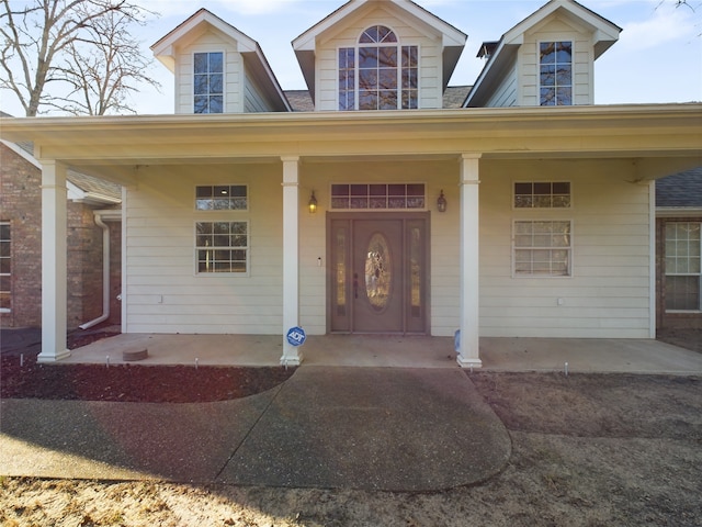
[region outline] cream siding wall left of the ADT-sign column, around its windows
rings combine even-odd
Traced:
[[[280,334],[280,167],[147,167],[144,172],[127,199],[127,332]],[[195,186],[218,183],[248,184],[250,211],[195,211]],[[248,276],[195,272],[196,221],[249,222]]]

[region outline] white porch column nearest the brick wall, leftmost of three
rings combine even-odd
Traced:
[[[42,160],[42,352],[38,362],[70,355],[66,348],[66,166]]]

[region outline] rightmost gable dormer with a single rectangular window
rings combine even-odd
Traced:
[[[552,0],[484,43],[486,60],[464,106],[539,106],[595,103],[595,60],[621,27],[573,0]]]

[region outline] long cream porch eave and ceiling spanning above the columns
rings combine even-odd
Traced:
[[[36,157],[128,184],[139,166],[362,159],[627,158],[641,179],[702,165],[702,104],[1,119]]]

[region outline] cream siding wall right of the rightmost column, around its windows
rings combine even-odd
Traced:
[[[622,161],[482,165],[482,336],[648,337],[649,198],[626,182],[631,170]],[[512,210],[512,182],[528,180],[570,181],[571,210]],[[512,277],[514,220],[570,220],[573,276]]]

